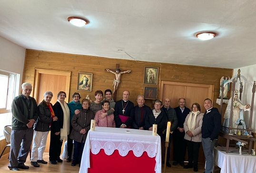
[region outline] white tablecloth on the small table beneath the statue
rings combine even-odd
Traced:
[[[256,156],[247,152],[226,153],[220,148],[214,149],[215,164],[221,168],[220,173],[256,173]]]

